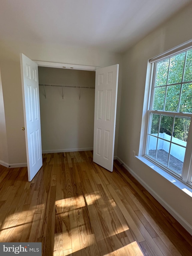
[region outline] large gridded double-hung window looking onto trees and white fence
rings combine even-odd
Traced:
[[[192,185],[192,49],[153,65],[144,155]]]

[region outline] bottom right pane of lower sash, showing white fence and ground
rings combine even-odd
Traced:
[[[171,144],[169,168],[180,175],[182,174],[184,155],[185,148],[176,144]]]

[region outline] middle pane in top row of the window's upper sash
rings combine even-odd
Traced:
[[[181,83],[185,53],[173,56],[170,60],[168,84]]]

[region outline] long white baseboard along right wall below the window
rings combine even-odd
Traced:
[[[192,226],[181,216],[178,212],[176,212],[162,197],[160,197],[149,185],[141,179],[127,164],[125,164],[118,156],[117,160],[123,164],[126,170],[128,170],[131,175],[143,185],[144,188],[153,196],[155,199],[161,203],[161,205],[192,235]]]

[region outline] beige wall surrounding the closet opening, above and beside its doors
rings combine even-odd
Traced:
[[[122,56],[99,49],[48,45],[46,43],[29,43],[25,41],[25,38],[22,38],[20,42],[0,42],[0,68],[4,95],[9,163],[26,163],[25,133],[21,130],[22,126],[24,126],[24,118],[19,53],[24,53],[30,59],[39,61],[100,67],[119,64],[120,75],[115,141],[115,153],[117,153]]]

